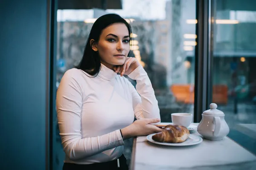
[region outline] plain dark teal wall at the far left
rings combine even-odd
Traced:
[[[1,170],[46,169],[47,56],[47,0],[1,0]]]

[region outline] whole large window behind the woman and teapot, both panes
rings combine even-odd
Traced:
[[[116,13],[132,26],[133,56],[151,79],[162,122],[171,122],[171,113],[194,114],[194,102],[197,112],[194,117],[199,122],[204,103],[208,102],[209,109],[209,103],[214,102],[225,114],[230,127],[228,136],[256,154],[256,1],[106,2],[88,0],[79,4],[59,0],[56,88],[65,71],[81,60],[94,21],[104,14]],[[209,6],[200,5],[204,3]],[[213,15],[209,20],[208,14]],[[201,59],[206,60],[201,62]],[[54,169],[61,170],[64,152],[58,125],[56,129],[53,165]],[[128,161],[131,147],[132,139],[125,142],[124,154]]]

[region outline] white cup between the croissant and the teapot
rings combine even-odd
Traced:
[[[190,113],[172,113],[171,116],[174,125],[189,127],[192,122],[192,114]]]

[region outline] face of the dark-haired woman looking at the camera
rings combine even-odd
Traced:
[[[102,64],[112,69],[123,65],[130,51],[129,31],[124,23],[114,23],[102,30],[99,42],[92,46],[99,52]]]

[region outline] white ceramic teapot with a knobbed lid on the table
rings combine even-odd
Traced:
[[[221,140],[229,133],[230,129],[224,119],[224,113],[216,108],[215,103],[210,104],[210,109],[204,111],[198,125],[198,133],[205,139]]]

